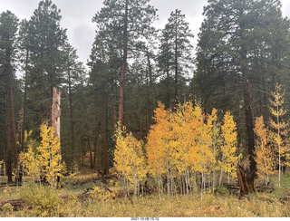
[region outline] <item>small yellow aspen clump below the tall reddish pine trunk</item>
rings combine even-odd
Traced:
[[[129,195],[129,187],[134,187],[134,195],[139,196],[140,184],[144,184],[147,168],[142,150],[142,142],[135,139],[132,133],[118,124],[115,131],[114,167],[124,178],[125,191]]]

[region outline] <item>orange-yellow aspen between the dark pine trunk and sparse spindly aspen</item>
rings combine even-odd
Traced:
[[[269,182],[269,175],[274,173],[275,158],[274,153],[269,146],[270,134],[266,129],[263,116],[256,118],[255,129],[256,133],[256,167],[259,177],[266,179],[266,184]]]

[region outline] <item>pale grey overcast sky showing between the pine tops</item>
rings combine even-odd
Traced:
[[[0,0],[0,13],[10,10],[19,19],[29,19],[37,8],[40,0]],[[80,61],[86,63],[91,53],[94,39],[95,24],[92,17],[102,7],[103,0],[53,0],[53,3],[61,9],[63,16],[61,25],[67,29],[70,43],[77,49]],[[290,17],[290,1],[282,0],[284,16]],[[198,31],[203,20],[203,7],[208,0],[151,0],[150,5],[158,9],[159,21],[155,23],[158,28],[167,24],[169,15],[175,9],[180,9],[186,14],[189,28],[195,35],[193,44],[198,41]]]

